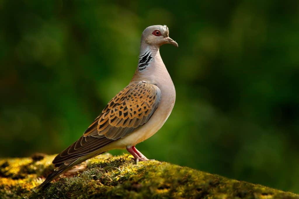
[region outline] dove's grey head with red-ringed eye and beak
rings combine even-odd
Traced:
[[[173,44],[178,47],[178,43],[173,41],[169,36],[169,30],[166,25],[154,25],[147,27],[141,36],[141,42],[152,46],[160,47],[163,44]]]

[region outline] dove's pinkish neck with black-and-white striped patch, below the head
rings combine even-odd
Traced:
[[[162,61],[159,47],[141,44],[138,66],[131,82],[142,80],[155,82],[160,74],[169,75]]]

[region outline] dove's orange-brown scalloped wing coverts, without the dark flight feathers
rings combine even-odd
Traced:
[[[161,99],[161,91],[144,81],[130,84],[120,91],[89,126],[83,136],[117,140],[145,124]]]

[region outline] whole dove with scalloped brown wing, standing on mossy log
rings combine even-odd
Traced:
[[[52,163],[57,168],[38,188],[73,166],[111,149],[127,149],[136,163],[149,161],[135,146],[163,126],[176,100],[173,81],[159,51],[163,44],[178,47],[169,37],[166,25],[149,26],[143,31],[132,80],[109,101],[83,135],[54,158]]]

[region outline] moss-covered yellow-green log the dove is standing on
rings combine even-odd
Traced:
[[[99,155],[43,189],[55,155],[0,160],[0,198],[296,198],[299,195],[167,162]],[[70,177],[72,176],[72,177]]]

